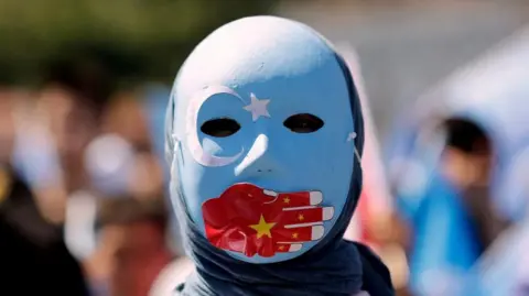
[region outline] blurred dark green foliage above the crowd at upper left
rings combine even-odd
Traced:
[[[274,0],[0,0],[0,81],[39,81],[50,64],[96,57],[121,83],[170,81],[228,21]]]

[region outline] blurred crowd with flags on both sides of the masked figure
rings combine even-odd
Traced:
[[[382,257],[399,295],[529,295],[528,76],[521,32],[407,109],[384,147],[368,123],[347,235]],[[97,63],[0,85],[0,295],[145,296],[179,268],[169,94],[116,87]]]

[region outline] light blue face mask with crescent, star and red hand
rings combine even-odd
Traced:
[[[295,22],[244,19],[194,50],[172,91],[172,182],[212,245],[272,263],[325,241],[359,174],[349,96],[335,52]]]

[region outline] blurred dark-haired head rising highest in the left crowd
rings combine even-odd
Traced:
[[[105,80],[108,77],[102,69],[101,64],[85,58],[51,63],[36,94],[37,110],[46,121],[71,189],[84,182],[83,154],[99,132],[108,102],[111,81]]]

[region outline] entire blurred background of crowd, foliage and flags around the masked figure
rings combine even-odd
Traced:
[[[529,295],[521,0],[0,0],[0,294],[168,295],[188,268],[171,84],[197,42],[255,14],[312,25],[349,63],[368,139],[347,235],[398,294]]]

